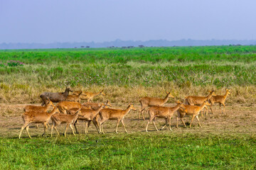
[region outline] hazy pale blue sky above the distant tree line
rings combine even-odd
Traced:
[[[256,39],[256,0],[0,0],[1,42]]]

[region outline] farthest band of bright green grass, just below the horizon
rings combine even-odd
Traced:
[[[134,49],[43,49],[0,50],[0,60],[21,60],[26,64],[127,62],[255,62],[255,46],[146,47]]]

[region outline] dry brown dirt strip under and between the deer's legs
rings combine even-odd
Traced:
[[[40,105],[39,103],[37,105]],[[16,138],[23,125],[21,115],[23,113],[23,107],[26,104],[0,104],[0,137],[11,137]],[[116,106],[112,103],[113,108],[126,108],[127,106]],[[166,106],[174,106],[174,104],[167,104]],[[148,121],[149,115],[145,114],[146,120],[138,120],[138,113],[140,106],[135,106],[137,111],[130,111],[124,118],[124,124],[127,128],[128,133],[146,133],[145,127]],[[176,128],[176,115],[171,120],[171,133],[182,134],[182,133],[195,133],[197,135],[213,134],[213,135],[255,135],[256,134],[256,105],[253,106],[242,106],[242,105],[228,105],[225,108],[225,113],[219,113],[219,106],[213,107],[214,115],[210,112],[203,117],[199,117],[203,128],[198,126],[198,121],[193,120],[192,128],[185,128],[179,120],[179,127]],[[191,117],[184,118],[185,123],[189,125]],[[51,125],[51,121],[50,121]],[[157,118],[156,126],[161,128],[164,125],[164,119]],[[116,127],[116,120],[107,120],[103,125],[105,133],[114,133]],[[65,125],[60,125],[58,130],[63,132]],[[80,121],[78,124],[78,130],[82,135],[85,135],[85,123]],[[149,125],[149,134],[155,132],[154,125]],[[36,129],[36,124],[31,123],[29,132],[31,137],[36,137],[43,134],[43,125],[39,125]],[[53,131],[55,133],[55,131]],[[119,133],[124,133],[124,128],[120,123],[118,128]],[[71,134],[69,128],[68,133]],[[89,129],[89,133],[97,134],[95,126],[92,124]],[[159,133],[170,133],[169,130],[164,129]],[[47,134],[50,135],[48,129]],[[23,130],[21,137],[28,137],[26,130]]]

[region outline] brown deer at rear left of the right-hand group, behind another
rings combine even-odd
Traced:
[[[139,118],[140,114],[142,113],[142,118],[144,118],[144,113],[143,111],[147,106],[163,106],[164,103],[168,101],[169,98],[174,98],[174,96],[171,95],[171,92],[166,92],[166,97],[165,98],[151,98],[151,97],[143,97],[140,98],[139,103],[142,105],[141,111],[139,111]]]

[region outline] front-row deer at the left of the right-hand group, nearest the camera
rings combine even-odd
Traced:
[[[178,111],[178,108],[181,108],[182,102],[177,101],[177,105],[174,107],[163,107],[163,106],[152,106],[146,112],[149,113],[149,121],[146,124],[146,132],[149,123],[153,120],[154,127],[156,128],[155,118],[164,118],[166,120],[166,124],[160,129],[163,130],[166,125],[169,123],[169,129],[171,130],[171,118],[174,115],[174,112]],[[156,128],[156,131],[159,131]]]

